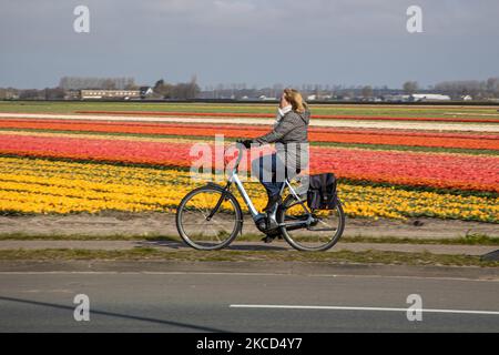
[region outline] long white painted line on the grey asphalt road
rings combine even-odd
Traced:
[[[329,310],[329,311],[373,311],[373,312],[407,312],[408,308],[389,307],[355,307],[355,306],[302,306],[302,305],[269,305],[269,304],[231,304],[231,308],[265,308],[265,310]],[[410,310],[422,313],[450,313],[450,314],[481,314],[499,315],[498,311],[466,311],[466,310]]]

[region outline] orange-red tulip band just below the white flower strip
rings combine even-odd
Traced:
[[[215,134],[223,134],[227,138],[254,138],[263,135],[268,131],[268,128],[251,125],[221,125],[214,128],[213,125],[207,124],[29,119],[0,119],[0,128],[193,136],[214,136]],[[499,150],[499,135],[495,134],[310,128],[309,139],[312,142]]]

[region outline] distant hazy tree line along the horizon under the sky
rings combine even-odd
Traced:
[[[228,100],[266,100],[278,98],[285,87],[296,88],[309,100],[325,101],[379,101],[390,95],[413,93],[441,93],[454,100],[470,95],[473,100],[499,99],[499,78],[487,80],[445,81],[434,87],[420,88],[417,81],[406,81],[401,89],[371,85],[338,85],[338,84],[289,84],[281,83],[272,87],[248,88],[245,83],[208,85],[201,90],[194,75],[189,82],[170,83],[164,79],[157,80],[151,99],[157,100],[193,100],[193,99],[228,99]],[[0,88],[0,100],[62,100],[74,99],[75,91],[83,89],[98,90],[139,90],[133,78],[90,78],[64,77],[57,88],[18,90]]]

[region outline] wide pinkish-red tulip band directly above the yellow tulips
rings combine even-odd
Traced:
[[[0,154],[190,168],[192,143],[2,134]],[[213,146],[206,144],[205,152]],[[213,162],[213,156],[211,158]],[[339,178],[499,192],[499,158],[465,154],[310,148],[310,171]]]

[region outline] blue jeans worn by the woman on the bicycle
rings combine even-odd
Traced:
[[[286,165],[276,154],[255,159],[252,162],[252,170],[253,174],[258,178],[271,197],[279,194],[286,178],[296,175],[296,172],[292,174],[287,171]]]

